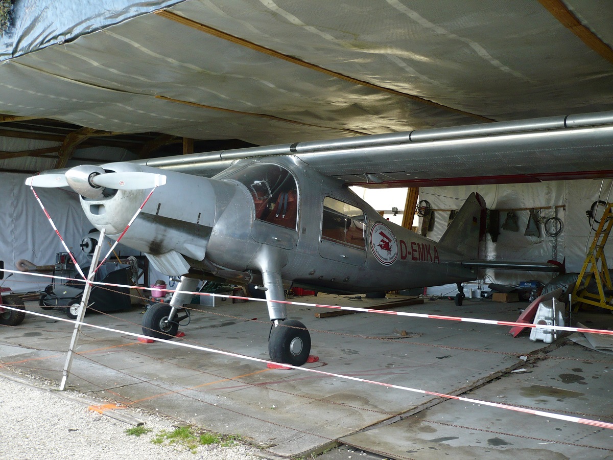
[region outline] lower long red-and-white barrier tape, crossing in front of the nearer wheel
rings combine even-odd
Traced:
[[[229,297],[229,296],[224,296],[224,297]],[[2,305],[2,306],[10,310],[23,311],[21,309],[16,309],[15,307],[11,307],[10,305]],[[253,358],[252,356],[239,355],[238,353],[232,353],[230,351],[223,351],[223,350],[216,350],[215,348],[201,347],[200,345],[192,345],[191,343],[172,342],[171,340],[166,340],[166,339],[155,339],[154,337],[149,337],[148,335],[135,334],[134,332],[120,331],[119,329],[113,329],[113,328],[105,328],[104,326],[97,326],[96,324],[89,324],[89,323],[83,323],[83,322],[73,321],[73,320],[64,319],[64,318],[58,318],[56,316],[44,315],[43,313],[35,313],[35,312],[27,312],[27,311],[26,313],[30,313],[31,315],[36,315],[36,316],[42,316],[43,318],[50,318],[52,320],[66,321],[67,323],[73,323],[73,324],[78,323],[81,326],[89,326],[90,328],[101,329],[102,331],[116,332],[117,334],[122,334],[122,335],[132,335],[133,337],[137,337],[137,338],[140,337],[143,339],[153,339],[156,342],[168,343],[169,345],[178,345],[180,347],[192,348],[194,350],[208,351],[209,353],[219,353],[220,355],[231,356],[232,358],[248,359],[249,361],[262,362],[263,364],[273,364],[273,365],[279,364],[278,362],[267,361],[266,359],[261,359],[261,358]],[[598,421],[598,420],[590,420],[587,418],[574,417],[574,416],[563,415],[563,414],[558,414],[558,413],[553,413],[553,412],[544,412],[542,410],[535,410],[535,409],[530,409],[530,408],[525,408],[525,407],[516,407],[516,406],[512,406],[508,404],[501,404],[499,402],[481,401],[479,399],[472,399],[469,397],[454,396],[451,394],[444,394],[444,393],[436,393],[435,391],[427,391],[424,389],[411,388],[409,386],[392,385],[391,383],[383,383],[381,381],[368,380],[366,378],[353,377],[351,375],[335,374],[334,372],[326,372],[325,370],[309,369],[308,367],[292,366],[291,364],[283,364],[283,366],[290,367],[291,369],[295,369],[295,370],[300,370],[302,372],[313,372],[314,374],[326,375],[328,377],[346,378],[348,380],[360,381],[362,383],[370,383],[372,385],[385,386],[387,388],[401,389],[403,391],[411,391],[413,393],[429,394],[431,396],[443,397],[443,398],[448,398],[448,399],[457,399],[458,401],[465,401],[465,402],[470,402],[473,404],[488,405],[490,407],[497,407],[497,408],[506,409],[506,410],[513,410],[515,412],[523,412],[523,413],[539,415],[539,416],[547,417],[547,418],[555,418],[557,420],[581,423],[584,425],[594,426],[598,428],[613,429],[613,423],[607,423],[607,422]]]

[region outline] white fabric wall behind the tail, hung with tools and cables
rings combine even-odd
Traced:
[[[600,199],[607,199],[611,180],[605,180],[602,185]],[[590,226],[585,211],[590,209],[592,202],[598,199],[600,180],[551,181],[534,184],[502,184],[479,186],[452,186],[422,188],[419,199],[430,202],[433,209],[459,209],[462,202],[473,191],[481,194],[488,209],[505,209],[500,212],[500,226],[506,218],[506,209],[552,207],[565,205],[566,209],[558,208],[556,217],[562,219],[564,229],[557,237],[557,260],[566,258],[566,271],[579,272],[585,260],[585,244],[593,239],[590,236]],[[609,199],[611,201],[613,197]],[[602,212],[602,208],[600,208]],[[435,212],[435,229],[428,237],[438,240],[447,225],[449,212]],[[511,232],[500,229],[498,241],[492,243],[489,234],[485,237],[485,258],[501,260],[527,260],[546,262],[552,258],[554,238],[546,236],[541,225],[541,236],[524,236],[528,224],[528,211],[517,211],[519,231]],[[554,216],[553,209],[541,210],[541,216]],[[598,217],[600,220],[600,217]],[[595,224],[596,228],[597,224]],[[613,265],[613,246],[605,251],[607,264]],[[541,280],[547,282],[552,274],[536,272],[516,272],[508,270],[488,270],[487,282],[514,284],[522,280]]]

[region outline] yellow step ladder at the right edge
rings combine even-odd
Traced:
[[[611,228],[613,228],[613,203],[607,202],[604,208],[603,217],[600,219],[598,229],[594,235],[594,240],[587,257],[583,263],[579,278],[575,283],[571,302],[574,311],[579,309],[579,304],[594,305],[603,309],[613,310],[613,285],[609,275],[609,267],[604,256],[604,245],[606,245]],[[590,281],[595,280],[598,287],[598,294],[587,292]]]

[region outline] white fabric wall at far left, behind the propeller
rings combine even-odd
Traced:
[[[36,197],[24,184],[26,177],[26,174],[0,173],[0,259],[10,270],[17,269],[15,263],[19,259],[28,259],[37,265],[55,264],[56,253],[65,251]],[[57,188],[37,188],[36,193],[78,263],[89,265],[79,244],[92,226],[83,215],[77,194]],[[24,292],[36,291],[48,284],[48,278],[15,274],[5,286]]]

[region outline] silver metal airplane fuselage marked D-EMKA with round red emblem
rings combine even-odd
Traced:
[[[293,156],[237,161],[213,178],[131,163],[107,171],[165,174],[121,242],[168,275],[190,269],[281,273],[320,291],[375,292],[476,278],[462,241],[434,242],[385,220],[339,180]],[[116,239],[148,191],[82,197],[86,216]],[[474,218],[473,218],[474,224]]]

